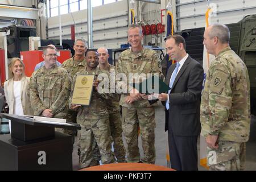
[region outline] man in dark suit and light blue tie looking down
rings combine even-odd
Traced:
[[[165,101],[166,125],[171,167],[176,170],[197,170],[197,136],[200,134],[200,97],[203,67],[185,51],[180,35],[166,40],[167,53],[177,61],[168,69],[168,93],[159,94]]]

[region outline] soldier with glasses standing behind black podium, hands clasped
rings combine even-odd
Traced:
[[[30,80],[30,100],[35,115],[68,119],[71,79],[64,68],[57,67],[56,49],[43,49],[45,65]]]

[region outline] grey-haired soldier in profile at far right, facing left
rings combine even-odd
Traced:
[[[204,33],[212,61],[201,98],[201,134],[207,142],[210,170],[245,169],[245,142],[250,130],[250,82],[245,63],[229,47],[222,24]]]

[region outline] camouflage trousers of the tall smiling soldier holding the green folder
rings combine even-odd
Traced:
[[[143,163],[155,163],[155,108],[122,107],[122,128],[127,143],[127,162],[141,159],[138,147],[138,127],[141,132]]]

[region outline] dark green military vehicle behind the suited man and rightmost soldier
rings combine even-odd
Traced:
[[[245,62],[250,78],[251,114],[256,115],[256,15],[247,15],[238,23],[226,24],[230,30],[230,47]],[[204,29],[193,28],[179,32],[186,42],[186,51],[203,64]]]

